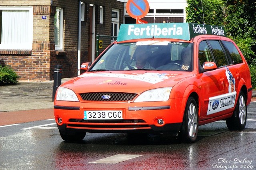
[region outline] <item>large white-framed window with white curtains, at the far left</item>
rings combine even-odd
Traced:
[[[33,8],[0,7],[0,49],[32,49]]]

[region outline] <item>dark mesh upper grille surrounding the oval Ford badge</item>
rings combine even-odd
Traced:
[[[102,96],[110,96],[109,99],[103,99]],[[98,92],[98,93],[81,93],[83,101],[132,101],[137,94],[135,93],[118,93],[118,92]]]

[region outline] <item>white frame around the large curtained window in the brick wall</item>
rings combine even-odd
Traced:
[[[8,44],[0,44],[0,49],[32,49],[33,43],[33,7],[19,7],[19,6],[0,6],[0,10],[28,10],[28,34],[26,39],[28,40],[26,43],[8,43]],[[0,23],[2,24],[2,23]],[[2,33],[0,33],[2,36]],[[0,42],[1,43],[1,42]]]

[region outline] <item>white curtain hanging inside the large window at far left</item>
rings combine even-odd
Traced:
[[[2,44],[28,43],[29,10],[2,10]]]

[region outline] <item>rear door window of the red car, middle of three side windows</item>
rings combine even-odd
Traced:
[[[216,64],[218,65],[218,67],[228,65],[228,60],[225,56],[222,46],[220,45],[220,42],[217,40],[209,40],[209,43],[212,47],[212,51],[216,58]]]

